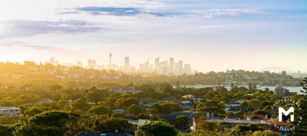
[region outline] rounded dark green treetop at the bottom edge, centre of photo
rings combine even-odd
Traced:
[[[136,136],[175,136],[178,131],[172,125],[162,121],[152,121],[138,127]]]

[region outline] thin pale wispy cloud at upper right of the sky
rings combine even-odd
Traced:
[[[212,18],[214,16],[239,16],[247,14],[259,14],[264,11],[256,8],[243,9],[212,9],[212,10],[188,10],[187,13],[196,14],[204,18]]]

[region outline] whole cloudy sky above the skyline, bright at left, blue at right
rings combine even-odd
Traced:
[[[307,72],[306,1],[1,0],[0,61]]]

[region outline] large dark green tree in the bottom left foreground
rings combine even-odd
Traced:
[[[67,132],[67,123],[71,119],[70,114],[59,111],[49,111],[37,114],[21,123],[14,131],[14,135],[20,136],[64,136]]]

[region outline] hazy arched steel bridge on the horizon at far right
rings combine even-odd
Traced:
[[[286,71],[287,74],[293,77],[296,77],[296,78],[307,77],[306,73],[298,73],[298,72],[295,72],[294,70],[290,70],[290,69],[282,68],[282,67],[268,67],[268,68],[261,69],[258,72],[265,72],[265,71],[276,72],[276,73],[279,73],[281,71]]]

